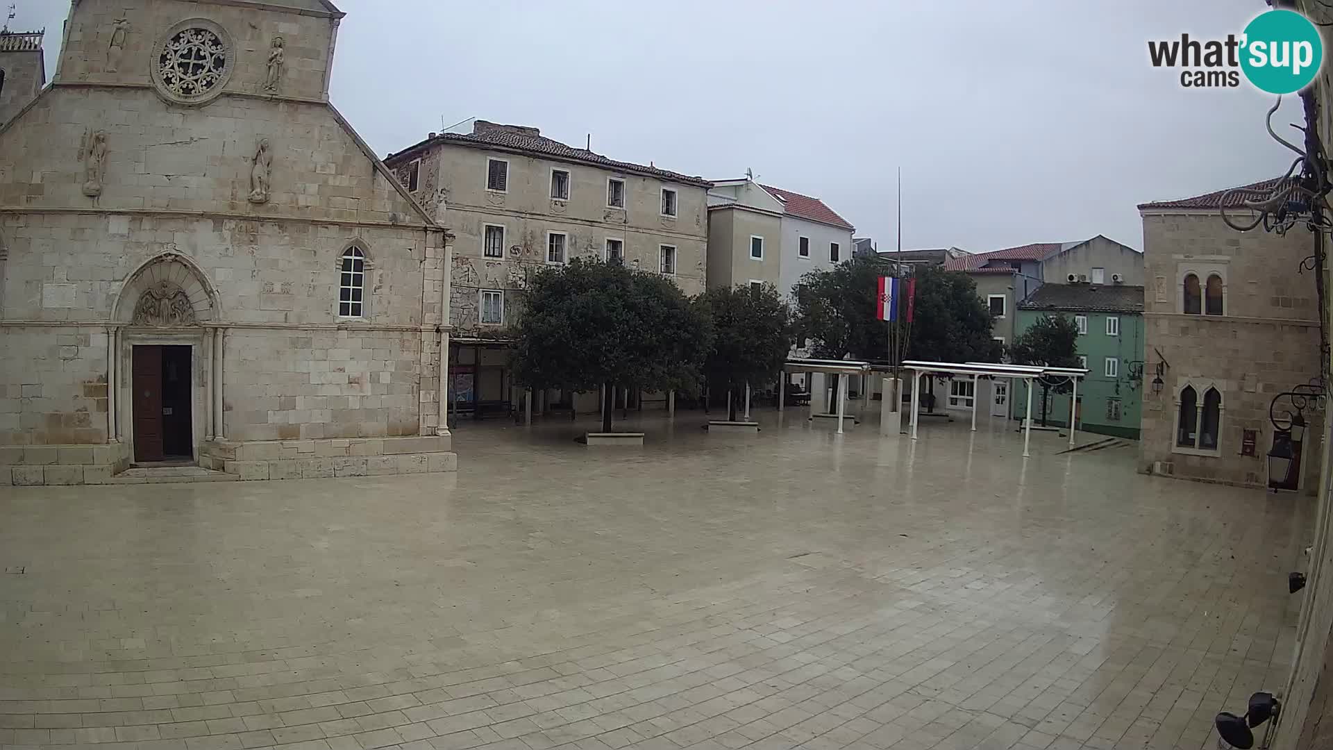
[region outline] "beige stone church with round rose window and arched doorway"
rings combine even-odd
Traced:
[[[72,4],[0,129],[0,480],[455,466],[447,232],[328,101],[341,19]]]

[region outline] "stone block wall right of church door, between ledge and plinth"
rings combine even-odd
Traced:
[[[233,440],[416,435],[420,331],[233,328],[223,399]]]

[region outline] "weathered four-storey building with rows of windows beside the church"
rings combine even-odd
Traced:
[[[456,235],[451,263],[449,380],[453,408],[480,416],[517,406],[505,331],[529,275],[573,258],[620,260],[704,290],[710,183],[617,161],[537,128],[469,120],[385,157],[399,181]],[[620,396],[624,399],[625,396]],[[631,406],[665,404],[629,394]],[[597,411],[597,394],[552,390],[552,408]]]

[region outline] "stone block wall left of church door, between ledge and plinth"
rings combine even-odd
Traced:
[[[107,440],[107,332],[0,323],[0,446]]]

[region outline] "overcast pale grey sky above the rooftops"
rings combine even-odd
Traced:
[[[16,0],[45,24],[64,0]],[[333,103],[384,156],[467,117],[710,179],[753,168],[896,243],[984,252],[1104,234],[1136,204],[1274,176],[1272,100],[1181,88],[1149,39],[1238,33],[1262,0],[335,0]],[[1282,121],[1300,108],[1285,103]],[[1288,128],[1288,132],[1293,132]]]

